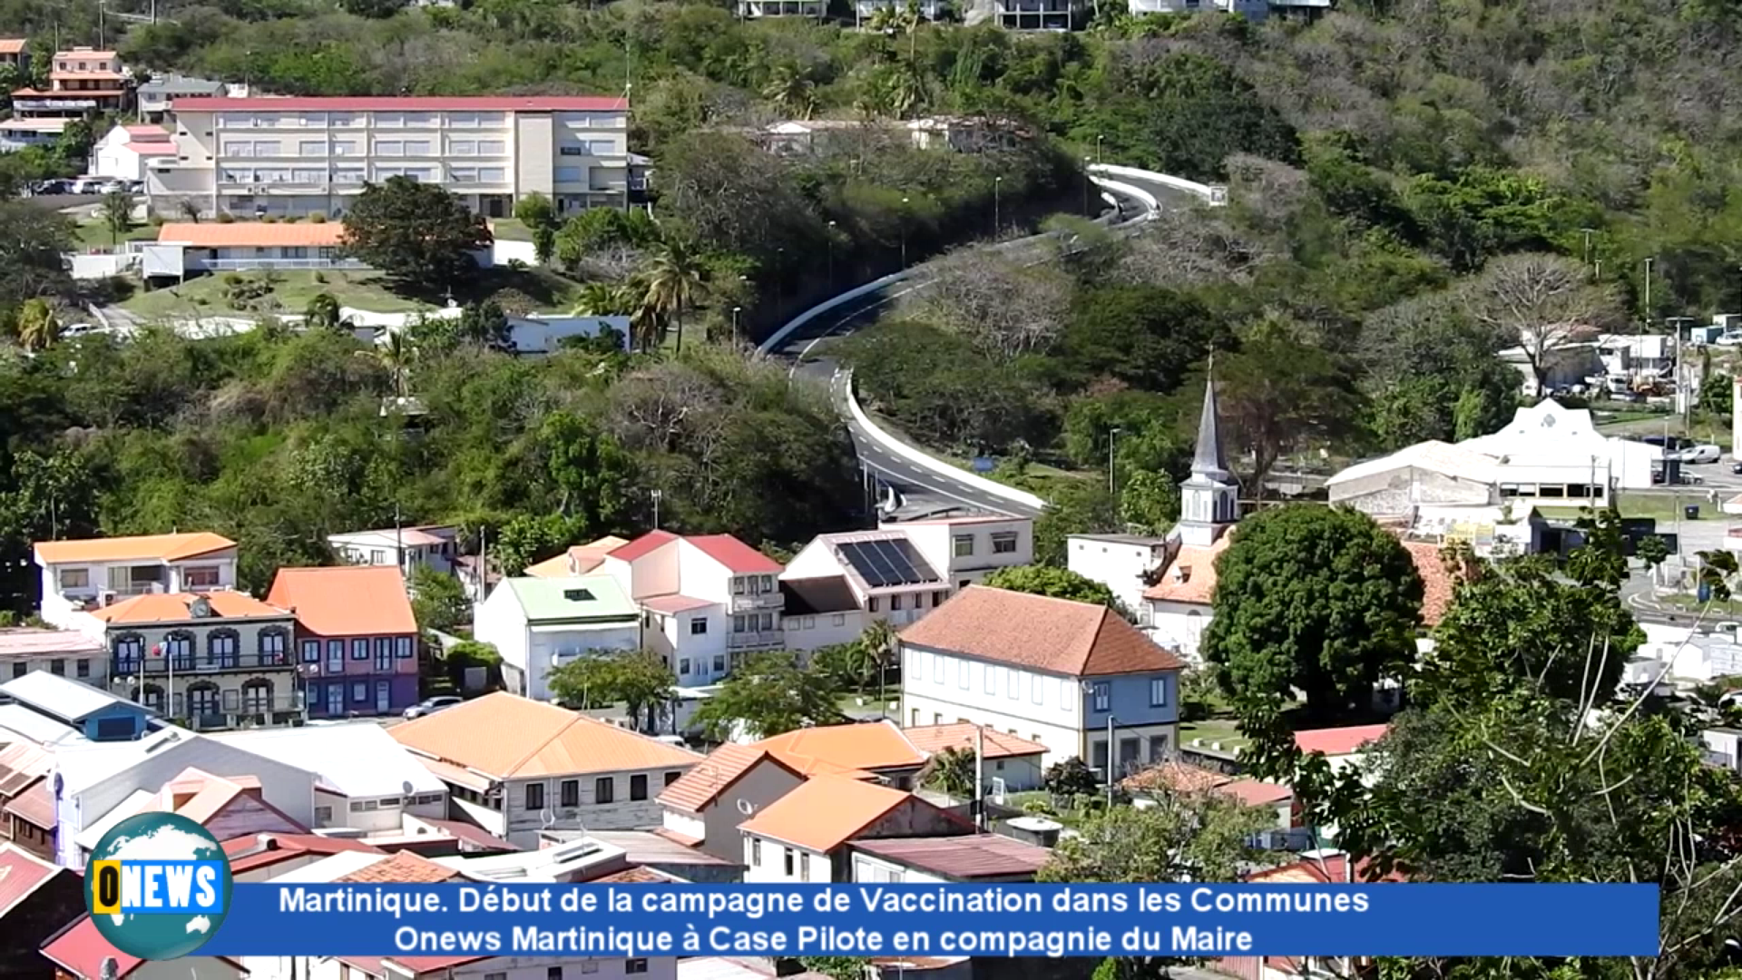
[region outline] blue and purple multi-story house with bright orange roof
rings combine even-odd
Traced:
[[[310,715],[395,715],[416,704],[418,623],[399,568],[279,568],[267,602],[296,617]]]

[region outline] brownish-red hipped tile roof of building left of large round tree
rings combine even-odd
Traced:
[[[969,586],[901,642],[1066,677],[1179,670],[1179,657],[1104,605]]]

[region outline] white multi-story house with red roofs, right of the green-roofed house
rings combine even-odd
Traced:
[[[610,551],[599,572],[629,591],[643,643],[679,685],[714,684],[747,654],[786,645],[780,563],[730,534],[648,532]]]

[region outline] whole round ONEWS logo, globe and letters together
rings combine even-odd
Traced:
[[[230,861],[218,839],[185,816],[129,816],[91,853],[85,909],[127,956],[190,956],[230,910]]]

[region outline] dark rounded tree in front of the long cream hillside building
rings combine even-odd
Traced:
[[[434,183],[392,176],[345,209],[347,253],[432,293],[476,277],[472,253],[490,244],[484,218]]]

